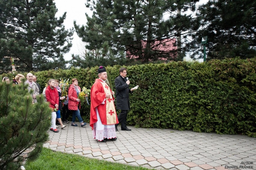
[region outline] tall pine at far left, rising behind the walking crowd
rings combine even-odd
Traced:
[[[66,30],[66,13],[56,18],[53,0],[0,0],[0,70],[65,68],[63,54],[72,46],[73,30]]]

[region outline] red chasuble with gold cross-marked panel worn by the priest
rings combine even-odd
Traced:
[[[90,126],[93,129],[93,124],[98,121],[96,115],[96,107],[99,112],[99,117],[104,125],[117,124],[117,113],[114,105],[114,98],[112,95],[108,99],[106,94],[111,94],[111,89],[108,87],[107,83],[100,79],[96,79],[95,83],[91,88],[91,112],[90,112]],[[105,99],[105,101],[104,101]],[[102,102],[105,104],[101,104]]]

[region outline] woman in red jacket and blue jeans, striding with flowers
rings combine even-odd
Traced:
[[[84,123],[81,115],[80,115],[80,108],[81,108],[81,103],[80,99],[78,99],[78,94],[81,92],[81,88],[78,86],[78,80],[77,79],[72,79],[72,85],[69,87],[69,104],[68,108],[69,110],[72,110],[73,115],[72,115],[72,124],[71,126],[77,126],[75,124],[75,118],[77,117],[81,127],[85,126],[86,123]]]

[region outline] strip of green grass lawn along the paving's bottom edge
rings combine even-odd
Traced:
[[[27,162],[24,167],[26,170],[148,170],[147,168],[91,159],[75,154],[54,152],[48,148],[43,148],[38,159]]]

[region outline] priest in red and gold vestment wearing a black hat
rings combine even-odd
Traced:
[[[93,130],[93,139],[99,142],[117,140],[115,124],[118,124],[117,113],[114,106],[114,91],[111,91],[105,80],[107,72],[105,67],[98,69],[99,79],[95,80],[91,88],[90,126]]]

